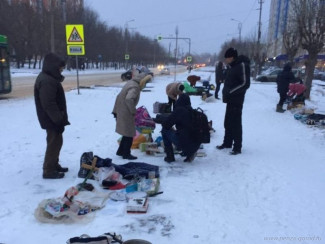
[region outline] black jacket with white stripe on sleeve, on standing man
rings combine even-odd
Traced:
[[[222,90],[223,102],[243,104],[250,86],[250,60],[240,55],[229,66]]]

